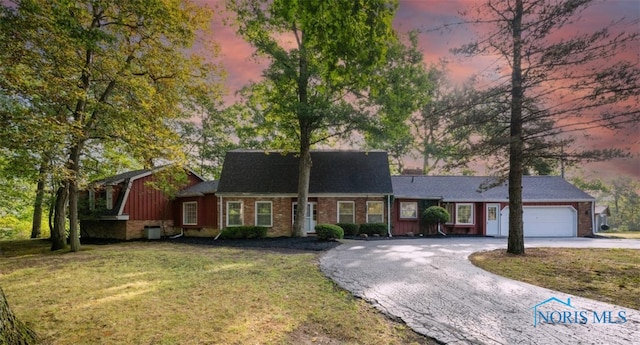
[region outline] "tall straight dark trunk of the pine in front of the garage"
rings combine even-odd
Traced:
[[[524,255],[522,224],[522,0],[516,0],[513,29],[513,71],[511,73],[511,128],[509,140],[509,240],[507,253]]]

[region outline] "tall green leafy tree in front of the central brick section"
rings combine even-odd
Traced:
[[[311,147],[363,126],[366,112],[354,101],[384,64],[392,0],[236,0],[229,9],[238,33],[269,60],[264,80],[245,89],[258,136],[300,154],[298,205],[306,205]],[[306,207],[298,207],[294,235],[304,236]]]

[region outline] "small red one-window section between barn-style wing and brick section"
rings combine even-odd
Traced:
[[[178,193],[173,202],[173,226],[189,237],[213,237],[218,226],[218,181],[204,181]]]

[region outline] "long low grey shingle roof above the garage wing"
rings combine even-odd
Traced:
[[[508,183],[482,190],[496,180],[487,176],[392,176],[396,198],[443,201],[508,201]],[[593,197],[560,176],[523,176],[524,201],[591,201]]]

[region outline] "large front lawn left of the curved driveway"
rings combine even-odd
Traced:
[[[336,287],[317,253],[0,242],[0,286],[51,344],[434,344]]]

